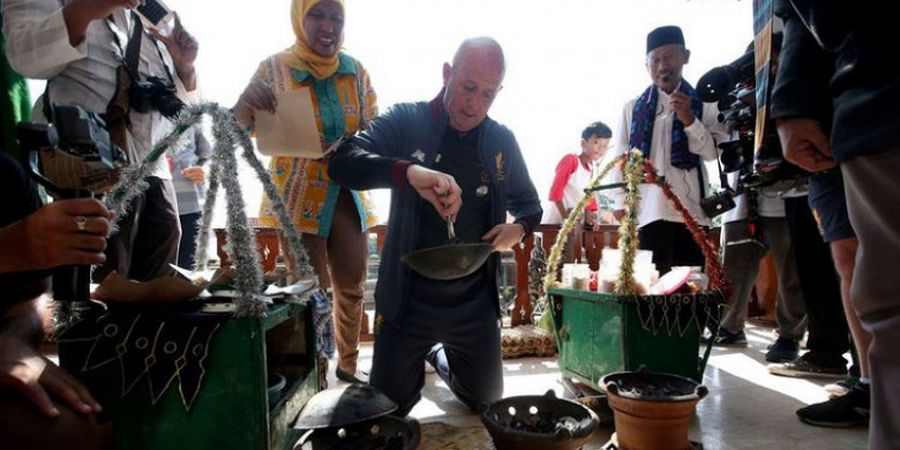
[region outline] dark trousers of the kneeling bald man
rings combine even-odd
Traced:
[[[426,356],[469,408],[500,399],[500,324],[492,302],[486,289],[455,302],[411,297],[402,328],[388,322],[377,327],[369,382],[400,405],[395,414],[406,415],[421,398]]]

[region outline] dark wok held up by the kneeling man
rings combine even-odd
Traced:
[[[494,246],[488,243],[447,244],[409,252],[401,258],[412,270],[434,280],[455,280],[480,268]]]

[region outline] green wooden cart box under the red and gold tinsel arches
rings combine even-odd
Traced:
[[[722,304],[718,292],[621,296],[548,291],[563,375],[596,388],[609,373],[644,368],[701,381],[711,346],[700,335]]]

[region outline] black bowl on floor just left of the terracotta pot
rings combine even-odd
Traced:
[[[586,406],[544,395],[509,397],[482,414],[497,450],[575,450],[597,429],[597,415]]]

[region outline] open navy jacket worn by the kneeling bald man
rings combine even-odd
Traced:
[[[344,143],[329,162],[328,175],[350,189],[393,188],[387,236],[381,255],[375,303],[378,313],[397,327],[409,297],[410,268],[400,261],[415,250],[420,202],[406,182],[408,163],[431,167],[440,150],[448,117],[438,99],[428,103],[402,103],[372,121],[369,128]],[[486,118],[480,125],[478,152],[494,183],[491,189],[492,225],[506,223],[509,212],[530,233],[541,220],[541,205],[512,132]],[[430,204],[421,210],[433,210]],[[499,254],[488,261],[499,267]],[[490,277],[496,300],[496,277]],[[496,301],[494,302],[497,303]],[[499,306],[498,306],[499,312]]]

